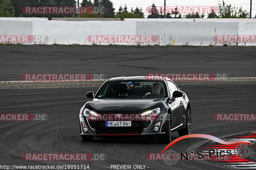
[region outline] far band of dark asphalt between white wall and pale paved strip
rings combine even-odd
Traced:
[[[103,79],[148,73],[255,77],[255,47],[0,46],[0,81],[22,74],[104,74]]]

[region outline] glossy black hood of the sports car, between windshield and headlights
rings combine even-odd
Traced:
[[[100,114],[117,113],[141,113],[147,110],[157,108],[163,98],[151,99],[93,99],[86,103],[85,108]]]

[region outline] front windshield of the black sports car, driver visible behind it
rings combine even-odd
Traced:
[[[161,98],[166,97],[163,81],[130,80],[108,81],[96,94],[96,98]]]

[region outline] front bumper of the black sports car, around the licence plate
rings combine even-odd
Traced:
[[[131,127],[105,127],[105,121],[88,121],[86,117],[79,114],[80,135],[89,135],[93,137],[109,137],[109,136],[155,136],[165,133],[165,121],[167,113],[161,113],[156,120],[148,121],[132,121]],[[88,128],[87,132],[82,130],[82,122]],[[158,131],[152,131],[155,124],[161,122]]]

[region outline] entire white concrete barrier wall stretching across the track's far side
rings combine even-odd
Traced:
[[[152,43],[101,42],[98,45],[192,45],[223,46],[214,36],[256,35],[256,22],[165,22],[165,21],[0,21],[0,35],[41,35],[47,42],[22,44],[92,45],[92,35],[155,35],[169,36],[169,41]],[[256,42],[231,42],[230,45],[255,46]]]

